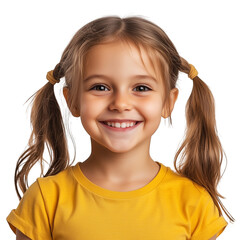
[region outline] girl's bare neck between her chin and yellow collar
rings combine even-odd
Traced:
[[[152,176],[159,169],[149,154],[148,144],[143,143],[128,152],[112,152],[91,139],[92,151],[82,163],[91,175],[113,182],[138,181]]]

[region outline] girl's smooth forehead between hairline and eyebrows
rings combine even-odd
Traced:
[[[103,73],[150,74],[155,76],[154,67],[144,47],[139,49],[127,41],[101,43],[90,48],[85,56],[84,76]]]

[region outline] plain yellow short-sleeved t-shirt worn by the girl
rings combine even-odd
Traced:
[[[157,162],[160,164],[159,162]],[[142,188],[91,182],[80,165],[37,178],[7,221],[34,240],[207,240],[227,222],[207,191],[160,164]]]

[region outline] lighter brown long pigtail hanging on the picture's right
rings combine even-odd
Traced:
[[[181,61],[181,71],[188,74],[189,64],[183,58]],[[186,104],[186,124],[185,140],[175,155],[174,167],[179,174],[203,186],[210,193],[220,215],[221,206],[228,218],[234,221],[219,199],[224,197],[217,191],[225,153],[217,135],[214,98],[198,76],[193,79],[192,93]],[[177,167],[177,158],[182,151]]]

